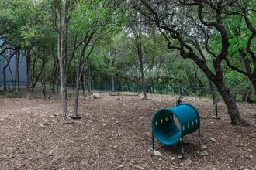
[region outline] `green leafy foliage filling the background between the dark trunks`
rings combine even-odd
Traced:
[[[175,12],[176,20],[173,20],[173,22],[177,22],[175,29],[186,37],[185,42],[192,47],[196,54],[200,54],[200,52],[194,45],[195,42],[199,43],[209,70],[214,73],[213,60],[215,58],[206,50],[206,45],[213,54],[220,53],[222,49],[220,34],[213,28],[204,28],[206,32],[203,32],[197,17],[185,18],[186,15],[194,16],[197,14],[198,8],[185,8],[172,1],[170,3],[181,10],[176,12],[175,9],[170,9],[166,5],[161,17],[171,17],[168,12]],[[254,9],[255,4],[254,1],[244,2],[244,7]],[[128,29],[132,11],[130,8],[133,6],[122,1],[103,0],[75,0],[68,1],[68,5],[70,7],[67,26],[67,58],[70,62],[69,81],[74,82],[75,80],[77,61],[81,56],[82,61],[87,59],[88,62],[85,68],[86,77],[89,77],[88,71],[90,70],[90,75],[94,76],[93,78],[98,82],[106,80],[111,83],[112,76],[114,76],[116,83],[139,83],[136,37]],[[22,49],[31,48],[33,50],[32,59],[37,62],[34,63],[35,72],[40,73],[40,67],[45,66],[48,80],[50,80],[54,64],[57,62],[58,30],[56,23],[57,12],[61,12],[61,8],[61,0],[0,1],[0,36],[5,37],[15,46],[21,46]],[[234,6],[225,8],[230,9],[230,11],[237,10]],[[209,6],[203,8],[203,12],[204,19],[209,22],[216,22]],[[137,14],[133,13],[133,15]],[[248,12],[248,17],[255,28],[255,12],[252,10]],[[138,22],[139,20],[140,22]],[[136,22],[134,19],[132,21]],[[141,29],[140,41],[144,51],[144,74],[147,83],[198,86],[199,80],[201,80],[203,85],[207,86],[208,80],[205,74],[197,69],[192,60],[182,59],[180,53],[168,49],[159,30],[154,26],[148,26],[150,23],[144,23],[143,18],[138,19],[137,24],[140,24]],[[227,29],[230,42],[227,59],[233,66],[245,70],[244,59],[241,58],[239,50],[246,50],[251,32],[241,15],[223,13],[223,24]],[[207,44],[204,33],[209,36],[207,37],[209,38]],[[171,45],[180,47],[177,39],[171,40]],[[86,46],[86,49],[82,55],[83,46]],[[256,39],[254,37],[250,47],[254,53],[256,53],[255,46]],[[91,49],[93,52],[88,57]],[[246,53],[245,59],[248,59],[252,72],[254,66],[248,53]],[[246,76],[231,70],[227,67],[227,63],[222,62],[222,64],[225,81],[230,88],[245,90],[247,87],[251,87],[251,81]],[[199,80],[195,78],[196,72]]]

